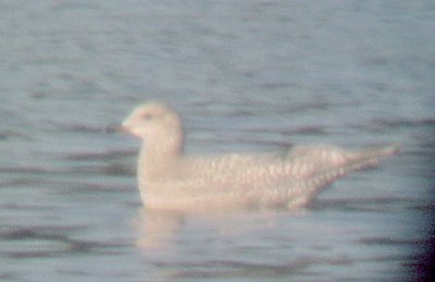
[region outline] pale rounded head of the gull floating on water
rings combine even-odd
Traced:
[[[120,130],[141,138],[149,150],[179,152],[183,149],[181,117],[160,102],[147,102],[133,110]]]

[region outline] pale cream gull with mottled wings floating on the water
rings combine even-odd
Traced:
[[[302,208],[333,181],[373,167],[398,148],[300,145],[275,152],[190,156],[184,152],[181,115],[156,101],[110,130],[142,139],[137,179],[145,208],[177,212]]]

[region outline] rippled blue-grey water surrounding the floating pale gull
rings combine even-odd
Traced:
[[[407,281],[430,263],[433,1],[1,1],[0,279]],[[298,212],[186,218],[144,248],[139,143],[190,152],[397,142]],[[420,272],[419,272],[420,271]]]

